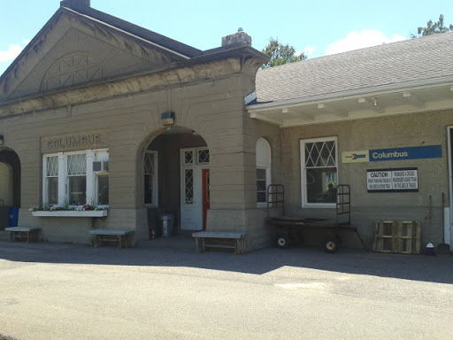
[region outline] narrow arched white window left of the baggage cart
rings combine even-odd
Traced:
[[[265,138],[259,138],[256,146],[257,157],[257,206],[267,206],[266,190],[271,184],[271,146]]]

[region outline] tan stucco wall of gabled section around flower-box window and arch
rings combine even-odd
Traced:
[[[250,93],[251,84],[249,75],[232,74],[216,81],[27,112],[3,120],[0,134],[4,135],[7,146],[18,154],[21,163],[19,224],[42,227],[42,235],[50,241],[71,241],[65,236],[57,236],[56,230],[45,231],[48,220],[32,222],[28,219],[30,212],[27,208],[42,203],[42,138],[101,131],[108,137],[110,155],[110,212],[102,219],[103,226],[135,228],[137,239],[147,238],[147,215],[140,185],[142,151],[162,132],[160,113],[166,111],[175,112],[177,126],[199,133],[211,151],[211,208],[242,209],[247,200],[250,204],[254,198],[244,198],[243,97]],[[173,145],[173,149],[177,147]],[[173,154],[176,152],[173,149],[168,152]],[[165,161],[163,158],[160,163]],[[168,202],[173,206],[174,197]],[[166,205],[168,202],[163,197],[162,203]],[[145,212],[143,216],[141,209]],[[57,220],[59,223],[73,223]],[[81,241],[79,236],[74,237],[74,242]]]

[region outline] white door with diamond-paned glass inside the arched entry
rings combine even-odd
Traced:
[[[180,158],[180,228],[202,230],[202,170],[209,165],[209,151],[206,148],[182,149]]]

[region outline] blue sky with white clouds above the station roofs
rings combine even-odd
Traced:
[[[0,0],[0,74],[58,10],[59,0]],[[451,0],[293,1],[91,0],[126,19],[200,50],[219,47],[238,27],[262,50],[273,36],[309,58],[392,42],[417,34],[428,19],[453,23]]]

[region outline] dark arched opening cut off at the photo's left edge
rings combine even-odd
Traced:
[[[20,206],[19,156],[12,149],[0,148],[0,229],[8,227],[12,206]]]

